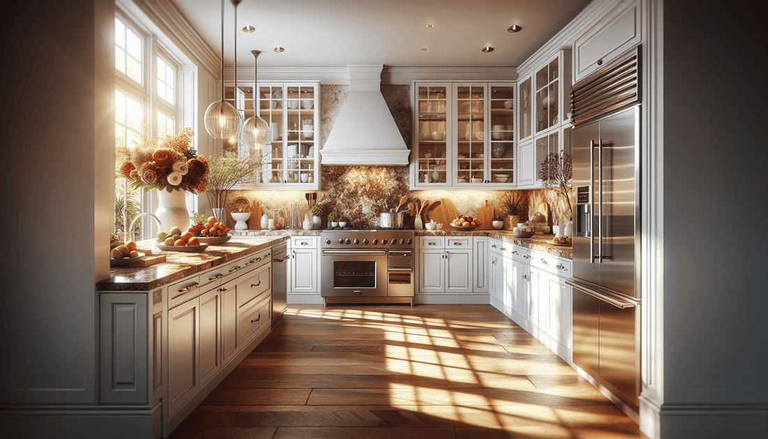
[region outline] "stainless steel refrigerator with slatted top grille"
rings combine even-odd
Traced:
[[[573,359],[638,410],[640,394],[640,50],[571,91]]]

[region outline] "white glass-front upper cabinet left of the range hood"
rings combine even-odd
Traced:
[[[260,84],[259,114],[270,141],[256,186],[319,190],[319,84]]]

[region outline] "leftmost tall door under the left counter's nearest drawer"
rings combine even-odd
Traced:
[[[192,299],[168,311],[169,414],[191,398],[200,387],[197,375],[197,352],[200,348],[199,313],[198,299]]]

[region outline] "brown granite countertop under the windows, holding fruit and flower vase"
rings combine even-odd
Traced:
[[[152,254],[164,254],[166,262],[148,267],[114,266],[109,279],[96,282],[98,291],[146,291],[184,279],[196,272],[230,262],[250,253],[269,248],[289,239],[288,236],[233,236],[229,242],[208,246],[200,253],[164,252],[154,246],[154,239],[140,241],[138,247],[152,249]]]

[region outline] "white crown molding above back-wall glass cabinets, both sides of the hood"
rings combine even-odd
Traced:
[[[224,68],[224,78],[233,77],[233,68]],[[518,78],[514,67],[387,67],[381,74],[382,85],[410,85],[413,81],[441,82],[511,82]],[[259,81],[319,81],[320,84],[349,84],[345,67],[260,67]],[[253,67],[238,67],[237,81],[253,81]]]

